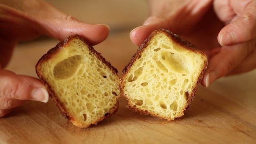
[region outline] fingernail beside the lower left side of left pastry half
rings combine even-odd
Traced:
[[[40,101],[47,103],[49,100],[49,94],[46,89],[44,88],[37,88],[33,89],[31,92],[31,98],[32,100]]]

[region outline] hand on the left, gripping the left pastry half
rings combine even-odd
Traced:
[[[58,40],[73,34],[98,44],[108,36],[103,24],[85,24],[42,0],[0,0],[0,117],[24,100],[47,102],[43,83],[31,76],[18,75],[3,68],[19,41],[47,35]]]

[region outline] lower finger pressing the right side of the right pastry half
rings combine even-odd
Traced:
[[[245,60],[246,57],[254,52],[255,46],[255,41],[253,40],[232,46],[223,46],[218,54],[209,59],[202,85],[207,87],[215,80],[229,74]],[[249,63],[249,65],[252,64],[251,62]]]

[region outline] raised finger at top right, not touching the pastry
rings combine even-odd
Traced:
[[[221,46],[249,41],[256,37],[256,1],[230,0],[230,6],[237,17],[225,26],[218,34]]]

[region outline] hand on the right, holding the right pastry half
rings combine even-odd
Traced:
[[[256,68],[255,0],[150,0],[150,7],[152,16],[131,31],[131,41],[139,46],[158,28],[188,39],[208,57],[203,86]]]

